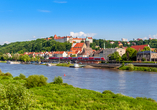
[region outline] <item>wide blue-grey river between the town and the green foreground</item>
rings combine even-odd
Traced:
[[[14,77],[23,73],[28,77],[42,74],[52,82],[55,76],[62,76],[63,82],[74,87],[103,92],[111,90],[131,97],[147,97],[157,101],[157,73],[119,71],[111,69],[68,68],[45,65],[23,65],[0,63],[2,72],[10,72]],[[64,76],[64,74],[66,76]]]

